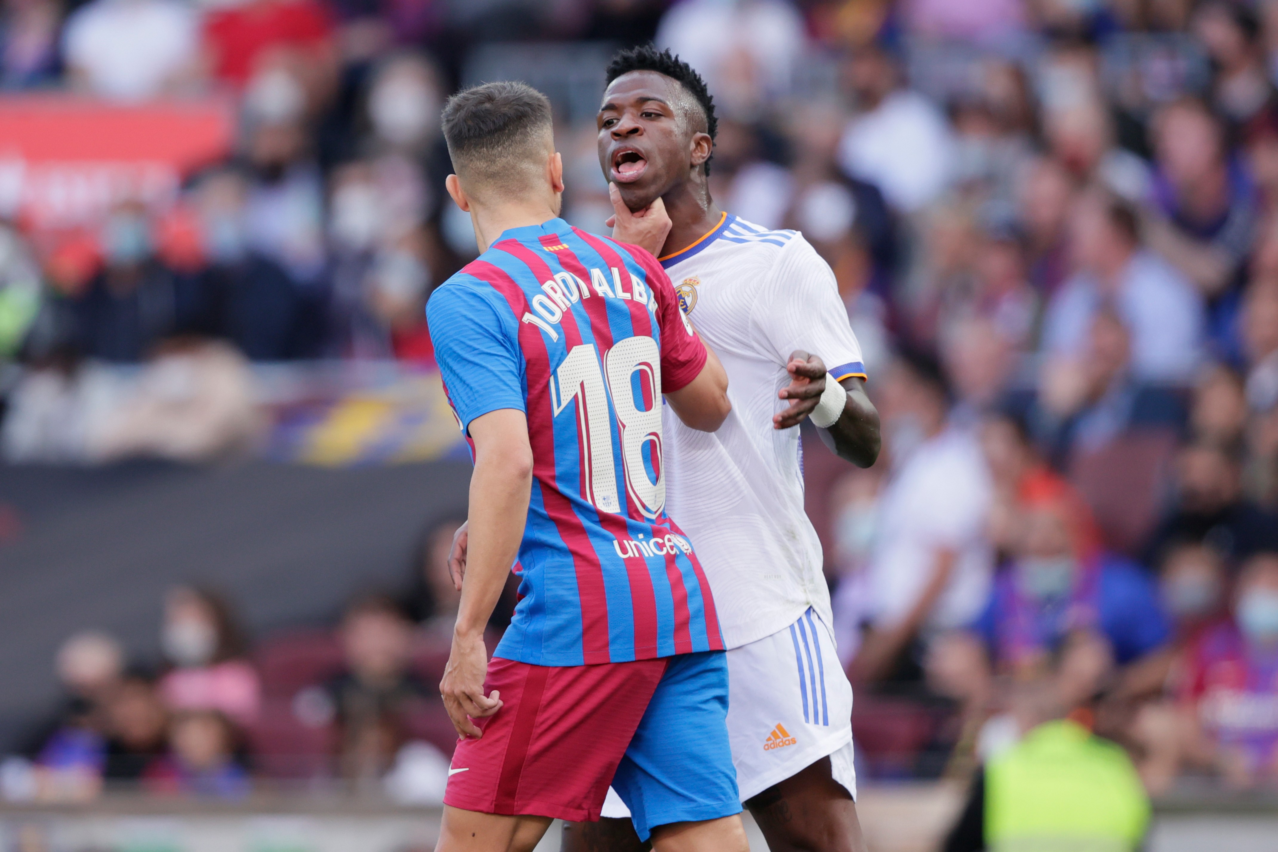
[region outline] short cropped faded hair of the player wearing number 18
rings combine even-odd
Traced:
[[[458,92],[443,105],[442,124],[458,174],[502,189],[530,176],[528,166],[541,167],[544,134],[553,133],[550,100],[511,80]]]

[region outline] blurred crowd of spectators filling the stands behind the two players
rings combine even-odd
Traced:
[[[808,478],[868,777],[990,759],[1047,683],[1154,792],[1278,780],[1274,0],[5,0],[9,89],[239,116],[171,208],[0,231],[0,356],[26,365],[8,439],[19,411],[56,432],[86,363],[184,358],[161,402],[193,365],[428,365],[424,301],[475,252],[441,192],[446,93],[493,69],[552,89],[564,215],[603,231],[602,63],[570,47],[648,40],[714,95],[718,204],[801,230],[865,350],[883,457]],[[447,754],[429,623],[371,599],[245,657],[212,600],[174,594],[158,680],[102,637],[64,654],[37,788],[231,795],[302,772],[288,755],[406,779],[392,757],[429,752],[405,743]]]

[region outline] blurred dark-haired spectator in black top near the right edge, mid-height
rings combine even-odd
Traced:
[[[1176,542],[1205,543],[1232,565],[1278,549],[1278,519],[1245,497],[1237,450],[1206,441],[1181,448],[1176,501],[1145,547],[1145,562],[1162,562],[1163,549]]]

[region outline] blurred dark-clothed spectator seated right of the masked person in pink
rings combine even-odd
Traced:
[[[443,553],[447,558],[447,545]],[[339,772],[357,786],[386,774],[409,740],[412,717],[420,715],[428,701],[443,714],[438,691],[409,668],[412,640],[412,623],[389,598],[366,598],[343,617],[346,671],[326,691],[339,732]]]

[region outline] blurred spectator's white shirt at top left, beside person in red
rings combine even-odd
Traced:
[[[179,0],[91,0],[63,32],[69,82],[121,101],[144,101],[198,82],[196,10]]]

